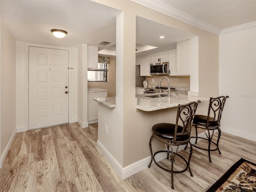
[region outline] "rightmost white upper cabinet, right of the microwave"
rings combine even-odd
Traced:
[[[190,40],[177,43],[177,75],[190,75]]]

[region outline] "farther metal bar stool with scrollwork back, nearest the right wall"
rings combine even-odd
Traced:
[[[219,96],[216,98],[210,98],[209,102],[209,108],[208,108],[208,114],[207,116],[205,115],[195,115],[194,121],[193,121],[193,126],[196,128],[196,136],[191,137],[191,138],[196,138],[197,139],[201,138],[204,140],[208,141],[208,148],[201,148],[200,146],[196,146],[192,144],[192,146],[201,149],[201,150],[206,150],[208,151],[208,156],[209,156],[209,161],[212,162],[210,152],[211,151],[219,151],[219,154],[221,154],[220,149],[219,149],[219,141],[220,141],[220,119],[222,116],[222,111],[226,102],[226,99],[229,98],[229,96]],[[197,129],[201,128],[204,133],[206,134],[206,138],[198,137],[198,132]],[[214,130],[218,130],[218,139],[217,142],[212,141],[212,137],[214,134]],[[214,144],[215,148],[211,149],[211,144]],[[188,145],[186,145],[185,150]]]

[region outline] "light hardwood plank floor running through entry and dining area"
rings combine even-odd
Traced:
[[[174,174],[174,190],[170,173],[155,164],[122,180],[96,147],[97,126],[72,123],[17,133],[0,169],[0,192],[203,192],[240,158],[256,162],[256,142],[222,133],[222,155],[212,152],[210,163],[207,152],[193,148],[194,177]],[[189,150],[179,153],[187,157]],[[180,166],[177,159],[175,168]]]

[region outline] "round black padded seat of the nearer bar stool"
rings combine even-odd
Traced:
[[[178,125],[177,133],[182,133],[182,131],[183,131],[183,127]],[[172,140],[175,134],[175,124],[171,124],[171,123],[155,124],[152,127],[152,132],[158,138]],[[188,140],[189,137],[190,137],[190,134],[177,135],[176,140],[185,141],[185,140]]]

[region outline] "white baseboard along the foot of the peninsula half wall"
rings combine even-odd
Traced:
[[[198,134],[199,137],[206,138],[206,135],[204,133]],[[202,139],[198,139],[200,141]],[[194,144],[196,141],[195,138],[192,138],[190,142]],[[99,142],[97,141],[97,146],[99,150],[102,152],[102,154],[107,158],[108,162],[113,166],[114,170],[116,170],[117,174],[120,176],[120,178],[125,179],[133,174],[136,174],[145,168],[148,168],[148,165],[151,160],[151,156],[148,156],[142,160],[139,160],[133,164],[130,164],[124,168],[116,161],[116,159],[106,150],[106,148]],[[185,146],[180,146],[179,151],[183,150]],[[159,153],[155,156],[156,162],[163,160],[166,158],[166,153]],[[154,161],[152,162],[154,164]]]

